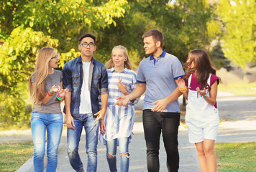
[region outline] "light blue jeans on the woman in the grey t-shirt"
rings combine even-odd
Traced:
[[[45,131],[47,130],[47,167],[46,171],[56,171],[58,147],[63,131],[63,115],[52,113],[32,113],[31,130],[34,143],[35,172],[44,171]]]

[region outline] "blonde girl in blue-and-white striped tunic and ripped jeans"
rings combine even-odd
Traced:
[[[117,171],[116,147],[119,146],[120,171],[129,171],[129,143],[132,139],[134,125],[134,103],[129,102],[125,107],[113,106],[116,98],[127,95],[137,87],[137,75],[132,70],[127,49],[116,46],[112,49],[111,59],[106,62],[109,82],[109,100],[104,120],[100,121],[100,141],[106,145],[106,159],[109,170]]]

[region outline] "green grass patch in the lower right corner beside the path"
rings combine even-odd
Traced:
[[[256,171],[256,143],[216,143],[219,172]]]

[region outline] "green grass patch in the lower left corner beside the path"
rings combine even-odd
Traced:
[[[33,143],[0,143],[0,171],[17,171],[33,156]]]

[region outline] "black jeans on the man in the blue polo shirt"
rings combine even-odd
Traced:
[[[161,131],[167,154],[168,171],[178,171],[178,126],[180,113],[156,113],[143,110],[143,128],[147,145],[147,171],[159,171],[159,143]]]

